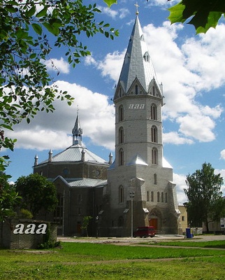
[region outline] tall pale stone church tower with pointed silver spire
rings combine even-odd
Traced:
[[[108,232],[103,232],[131,236],[137,227],[154,225],[159,232],[177,234],[180,215],[173,168],[163,155],[163,87],[157,82],[138,12],[114,103],[115,162],[108,169],[108,209],[102,217]]]

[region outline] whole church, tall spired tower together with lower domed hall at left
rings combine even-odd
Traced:
[[[61,234],[79,235],[84,216],[93,218],[92,235],[129,237],[135,228],[148,225],[157,232],[181,233],[173,168],[163,154],[163,86],[157,81],[138,12],[113,102],[114,162],[112,154],[106,162],[82,145],[79,116],[73,146],[55,157],[50,151],[40,165],[36,159],[34,172],[57,187],[55,219]]]

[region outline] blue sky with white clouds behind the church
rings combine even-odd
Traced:
[[[89,0],[88,3],[95,1]],[[108,161],[115,155],[115,107],[112,102],[115,85],[122,68],[129,36],[136,18],[136,1],[118,0],[108,8],[96,0],[102,11],[97,16],[111,27],[119,29],[112,41],[102,34],[94,38],[81,37],[92,55],[72,68],[64,51],[52,49],[51,61],[46,61],[49,73],[59,89],[75,98],[72,106],[55,102],[54,113],[38,113],[29,125],[26,122],[6,132],[17,139],[6,173],[16,181],[33,172],[34,158],[38,162],[72,145],[72,130],[79,110],[82,141],[85,146]],[[163,143],[164,158],[173,167],[179,204],[187,201],[185,179],[204,162],[209,162],[216,174],[224,177],[225,195],[225,22],[216,29],[196,35],[192,25],[170,25],[168,8],[176,1],[138,1],[140,25],[145,34],[157,80],[164,85]]]

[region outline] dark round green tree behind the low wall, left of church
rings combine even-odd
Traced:
[[[15,182],[16,190],[22,197],[21,207],[31,211],[34,218],[42,209],[54,211],[57,207],[57,191],[54,183],[39,174],[21,176]]]

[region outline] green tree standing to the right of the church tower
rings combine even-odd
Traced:
[[[209,232],[210,219],[218,218],[222,211],[218,206],[222,203],[223,182],[223,178],[220,174],[215,174],[210,163],[203,163],[202,169],[187,176],[188,188],[184,189],[184,193],[188,202],[185,206],[191,226],[201,227],[202,223],[205,223]]]

